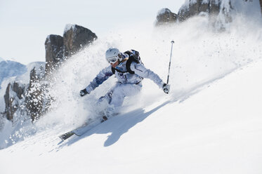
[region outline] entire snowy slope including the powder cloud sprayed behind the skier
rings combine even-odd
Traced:
[[[196,17],[168,28],[123,26],[98,39],[55,73],[51,112],[11,135],[2,131],[0,173],[261,173],[261,25],[240,16],[216,33]],[[108,47],[138,50],[165,80],[171,39],[169,95],[145,79],[122,114],[60,142],[58,135],[93,116],[93,103],[114,84],[110,78],[79,97],[108,66]]]

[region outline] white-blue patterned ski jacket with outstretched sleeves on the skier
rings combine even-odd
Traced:
[[[127,54],[122,54],[122,56],[124,57],[123,60],[129,58],[129,55]],[[117,83],[140,84],[143,78],[146,78],[154,81],[157,86],[159,86],[159,88],[163,87],[164,82],[162,79],[160,79],[159,76],[155,74],[155,72],[145,68],[143,63],[131,62],[130,69],[134,72],[134,74],[131,74],[126,69],[126,62],[127,61],[120,62],[117,67],[114,67],[114,69],[116,69],[114,73],[112,72],[111,65],[105,69],[102,69],[96,78],[90,82],[89,86],[86,87],[86,91],[91,93],[91,91],[97,88],[113,74],[117,77]]]

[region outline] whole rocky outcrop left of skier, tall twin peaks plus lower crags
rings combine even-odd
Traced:
[[[39,67],[38,64],[37,67],[30,68],[30,81],[27,84],[20,84],[17,81],[8,83],[4,95],[6,107],[1,114],[10,121],[15,121],[16,117],[25,113],[32,121],[39,119],[48,111],[53,100],[47,90],[51,88],[51,79],[55,79],[51,72],[96,39],[96,34],[79,25],[67,25],[63,36],[53,34],[47,36],[45,68]],[[12,72],[14,71],[15,67]]]

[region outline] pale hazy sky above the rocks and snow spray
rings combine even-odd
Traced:
[[[148,23],[157,12],[177,13],[185,0],[0,0],[0,58],[23,64],[45,61],[44,42],[49,34],[63,36],[65,25],[77,24],[98,39],[119,26]]]

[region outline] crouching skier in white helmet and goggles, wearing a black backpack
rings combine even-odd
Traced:
[[[106,101],[107,108],[103,121],[109,116],[117,114],[117,110],[122,106],[124,98],[136,95],[140,92],[143,78],[154,81],[164,93],[169,93],[170,85],[166,84],[157,74],[150,69],[146,69],[140,60],[138,51],[126,51],[121,53],[117,48],[110,48],[105,52],[105,58],[110,63],[109,67],[101,70],[89,86],[80,91],[80,96],[90,94],[96,87],[106,81],[113,74],[117,77],[117,83],[109,92],[98,100],[98,103]]]

